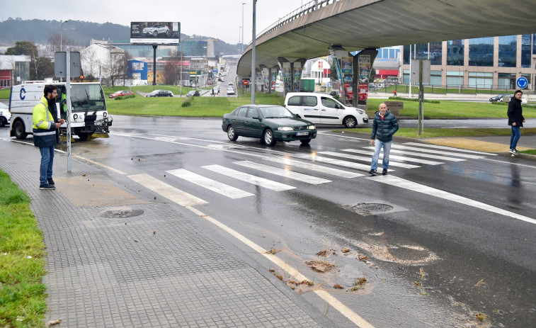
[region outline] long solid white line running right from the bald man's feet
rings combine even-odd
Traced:
[[[487,205],[484,203],[480,203],[477,200],[472,200],[469,198],[465,198],[462,196],[455,195],[454,193],[449,193],[447,191],[442,191],[439,189],[431,188],[428,186],[424,186],[420,183],[412,182],[409,180],[401,179],[397,176],[377,176],[377,177],[371,177],[371,178],[365,178],[365,179],[372,179],[374,181],[380,182],[380,183],[386,183],[391,186],[397,186],[399,188],[408,189],[411,191],[416,191],[418,193],[424,193],[426,195],[451,200],[456,203],[462,203],[464,205],[469,205],[474,208],[480,208],[481,210],[487,210],[489,212],[505,215],[508,217],[513,217],[517,220],[522,220],[525,222],[529,222],[536,225],[536,220],[532,219],[530,217],[526,217],[524,215],[519,215],[513,212],[510,212],[508,210],[503,210],[501,208],[496,208],[495,206]]]

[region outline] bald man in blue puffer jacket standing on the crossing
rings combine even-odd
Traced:
[[[372,120],[372,135],[370,135],[370,145],[374,146],[374,155],[372,155],[372,164],[368,173],[376,175],[378,168],[378,158],[380,150],[383,148],[382,174],[387,174],[389,169],[389,152],[393,141],[394,132],[398,131],[397,118],[387,111],[387,105],[380,103],[380,111],[377,111]]]

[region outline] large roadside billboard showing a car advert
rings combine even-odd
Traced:
[[[178,45],[181,23],[178,22],[131,22],[130,43],[149,45]]]

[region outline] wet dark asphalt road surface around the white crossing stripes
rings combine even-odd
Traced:
[[[413,169],[391,167],[394,171],[389,178],[417,183],[417,190],[433,188],[421,193],[382,183],[382,176],[370,178],[367,169],[320,162],[318,157],[327,157],[370,166],[370,162],[321,154],[369,146],[367,138],[338,135],[326,128],[309,146],[278,142],[272,148],[244,137],[230,142],[221,129],[221,120],[211,118],[115,116],[110,130],[108,139],[74,142],[73,154],[127,175],[149,174],[206,200],[207,204],[198,205],[203,213],[273,250],[317,286],[333,291],[338,300],[374,327],[465,327],[467,322],[479,324],[474,317],[478,312],[489,317],[481,327],[531,327],[535,322],[536,225],[435,193],[444,191],[534,219],[534,162],[484,155],[462,162],[422,164]],[[0,129],[0,137],[8,137],[7,128]],[[304,158],[310,154],[317,159]],[[282,158],[361,176],[344,177],[327,169],[312,171],[300,164],[270,160]],[[329,182],[303,183],[238,164],[244,161]],[[209,168],[213,165],[295,188],[273,191],[212,171]],[[176,169],[234,186],[253,196],[228,198],[169,173]],[[154,193],[126,176],[110,177],[153,199]],[[372,212],[356,210],[360,206],[369,206]],[[234,237],[208,222],[200,225],[222,234],[266,270],[275,269],[284,281],[288,278]],[[341,250],[346,247],[350,251],[345,254]],[[323,250],[327,256],[317,255]],[[315,272],[305,263],[311,260],[329,261],[336,268],[328,273]],[[352,291],[355,279],[364,276],[364,287]],[[335,284],[344,289],[335,291]],[[334,325],[350,327],[345,317],[307,293],[307,288],[296,291]]]

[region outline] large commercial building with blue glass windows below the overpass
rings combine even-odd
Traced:
[[[512,90],[515,80],[525,77],[528,89],[535,90],[536,34],[420,43],[401,50],[404,84],[409,83],[411,56],[430,60],[431,86]]]

